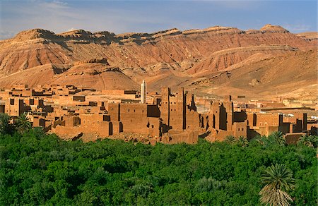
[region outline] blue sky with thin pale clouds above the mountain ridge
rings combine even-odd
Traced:
[[[259,30],[269,23],[293,33],[317,31],[317,1],[0,0],[0,40],[33,28],[119,34],[215,25]]]

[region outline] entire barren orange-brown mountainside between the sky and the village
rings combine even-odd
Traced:
[[[285,67],[284,59],[291,58],[288,56],[298,61]],[[257,78],[252,83],[257,87],[251,88],[245,70],[256,70],[259,64],[266,63],[269,67],[263,70],[265,76],[272,75],[273,68],[297,73],[298,78],[288,79],[287,75],[287,81],[277,83],[283,87],[305,77],[313,78],[312,83],[314,78],[317,80],[312,62],[317,63],[317,33],[294,35],[273,25],[246,31],[215,26],[204,30],[171,29],[120,35],[85,30],[54,34],[35,29],[0,41],[0,87],[11,87],[13,83],[30,86],[54,83],[98,90],[136,89],[141,80],[146,79],[150,90],[182,85],[188,90],[216,92],[213,88],[222,86],[224,94],[240,92],[240,95],[253,96],[261,90],[269,94],[277,92],[270,83]],[[302,75],[303,72],[298,71],[301,68],[308,68],[306,72],[311,75]],[[233,72],[242,75],[241,78],[239,75],[242,85],[236,85],[232,78],[223,78],[220,82],[211,80]],[[279,92],[293,91],[296,89],[289,86],[288,90]]]

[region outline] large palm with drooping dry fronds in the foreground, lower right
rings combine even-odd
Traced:
[[[290,205],[292,198],[286,191],[295,187],[292,171],[284,164],[275,164],[265,169],[265,174],[261,176],[261,182],[266,184],[261,189],[261,202],[269,205]]]

